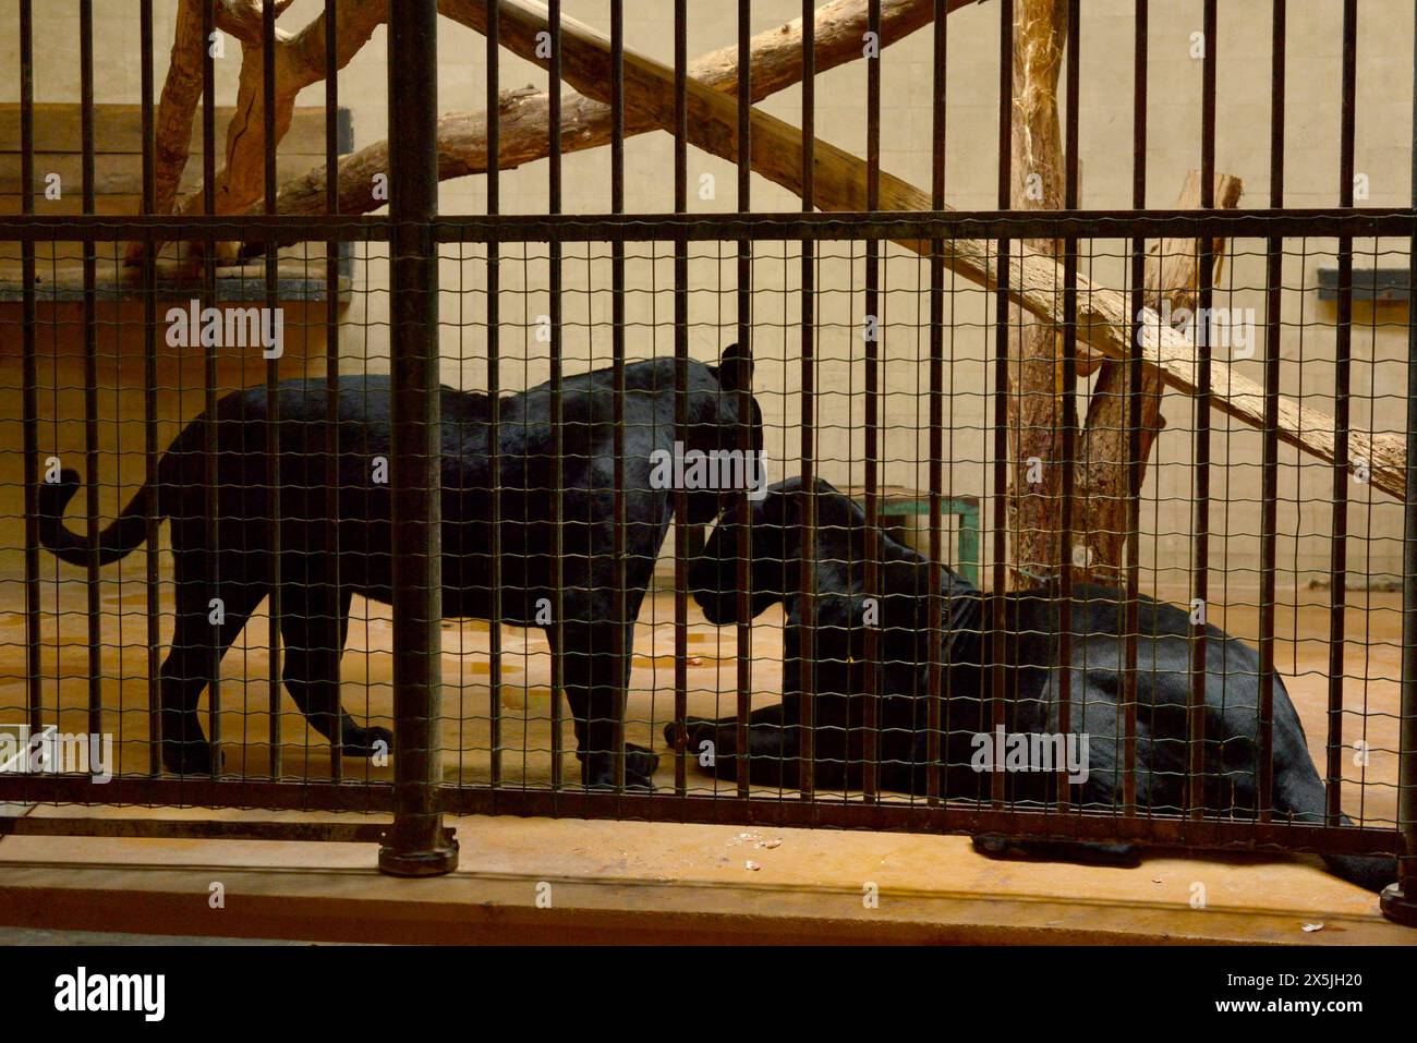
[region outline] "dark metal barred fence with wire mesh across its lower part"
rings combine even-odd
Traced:
[[[1196,198],[1146,207],[1145,4],[1132,208],[1078,205],[1076,3],[1060,201],[1017,205],[1000,3],[998,205],[948,211],[958,6],[857,4],[864,160],[815,137],[815,62],[836,58],[811,4],[801,129],[754,109],[748,62],[706,98],[683,3],[673,68],[626,55],[619,3],[608,40],[555,3],[462,11],[489,96],[503,47],[587,96],[608,72],[611,205],[561,213],[561,106],[584,99],[551,91],[546,211],[500,213],[492,106],[486,213],[438,215],[436,10],[410,4],[391,45],[428,61],[391,67],[387,171],[349,205],[368,160],[327,77],[302,183],[323,210],[300,215],[273,147],[264,200],[222,208],[210,51],[203,179],[163,213],[150,3],[135,205],[99,194],[95,129],[133,113],[95,103],[81,3],[82,198],[45,208],[21,1],[0,799],[395,812],[384,864],[407,873],[455,860],[444,813],[503,812],[1319,852],[1410,884],[1414,225],[1355,205],[1359,6],[1336,207],[1284,205],[1282,1],[1268,207],[1216,171],[1209,47]],[[901,11],[934,18],[930,191],[880,164]],[[755,54],[748,4],[737,26]],[[258,28],[273,50],[272,10]],[[626,84],[659,84],[659,109]],[[674,137],[673,214],[626,213],[642,123]],[[690,213],[690,145],[735,164],[731,211]],[[754,171],[803,213],[752,213]]]

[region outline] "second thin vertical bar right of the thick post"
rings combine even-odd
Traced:
[[[561,213],[561,0],[547,0],[547,20],[551,27],[551,58],[547,62],[550,112],[547,113],[547,133],[550,135],[550,154],[547,156],[547,213]],[[565,567],[561,561],[563,517],[561,517],[561,456],[564,444],[561,436],[561,244],[550,242],[550,292],[551,300],[548,312],[551,316],[551,527],[555,531],[555,563],[551,565],[554,575],[551,590],[551,626],[555,641],[551,642],[551,789],[561,789],[561,689],[565,684],[565,625],[563,622],[563,588],[565,585]],[[589,724],[589,721],[587,721]],[[587,737],[589,733],[587,731]],[[589,761],[587,748],[587,761]]]

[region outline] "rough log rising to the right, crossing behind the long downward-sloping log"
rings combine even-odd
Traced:
[[[954,11],[978,0],[948,0]],[[470,21],[470,14],[458,7],[456,0],[444,0],[441,11],[458,21]],[[881,45],[903,40],[930,24],[934,0],[883,0]],[[862,34],[867,26],[866,0],[833,0],[816,10],[815,62],[818,72],[843,65],[862,57]],[[802,79],[802,20],[760,33],[751,47],[754,101],[762,101]],[[706,86],[737,96],[738,48],[723,47],[689,64],[689,75]],[[503,91],[497,99],[500,119],[499,170],[513,170],[526,163],[546,159],[550,152],[551,95],[531,86]],[[625,135],[657,130],[659,126],[628,112]],[[561,98],[561,152],[581,152],[611,140],[611,109],[582,94],[567,92]],[[364,214],[384,205],[374,198],[370,184],[377,173],[388,170],[388,142],[377,142],[340,160],[339,207],[341,214]],[[486,112],[453,112],[438,120],[438,180],[446,181],[487,170]],[[324,213],[324,166],[281,186],[276,211],[281,214]],[[256,208],[256,207],[252,207]]]

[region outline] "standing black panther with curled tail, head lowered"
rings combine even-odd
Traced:
[[[733,346],[720,366],[687,366],[690,452],[735,451],[740,388],[752,387],[752,360]],[[625,367],[625,534],[626,626],[623,659],[615,655],[614,414],[612,371],[563,381],[561,519],[555,527],[551,391],[548,384],[506,395],[500,410],[502,618],[543,626],[563,652],[564,687],[575,724],[582,779],[612,782],[612,735],[623,716],[633,621],[673,516],[673,492],[652,480],[662,453],[674,452],[674,360]],[[745,441],[762,446],[762,418],[752,405]],[[390,530],[390,380],[344,377],[339,394],[339,554],[327,553],[327,436],[323,385],[300,380],[279,387],[281,466],[281,636],[283,680],[296,706],[320,734],[334,723],[346,752],[370,755],[390,733],[360,727],[339,703],[339,652],[344,648],[350,597],[388,602],[393,597]],[[442,577],[444,615],[486,618],[490,612],[492,495],[490,400],[442,388]],[[271,592],[271,500],[266,470],[266,393],[225,395],[215,410],[217,550],[208,546],[207,422],[198,417],[173,441],[157,468],[157,487],[145,486],[98,539],[101,564],[116,561],[146,536],[156,507],[171,523],[177,622],[162,667],[163,764],[174,772],[207,772],[211,747],[197,701],[213,669],[251,612]],[[84,565],[91,547],[64,527],[64,509],[79,476],[64,470],[40,489],[40,539],[64,561]],[[156,496],[156,503],[153,497]],[[721,509],[720,492],[689,495],[690,522],[704,524]],[[561,561],[561,619],[551,618],[555,561]],[[336,574],[337,567],[337,574]],[[339,605],[333,587],[337,575]],[[208,616],[214,598],[225,615]],[[215,645],[215,649],[213,648]],[[390,748],[390,747],[385,747]],[[628,747],[626,785],[649,787],[657,757]]]

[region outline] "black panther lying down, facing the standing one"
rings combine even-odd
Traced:
[[[828,789],[860,788],[864,762],[863,716],[867,692],[864,656],[866,625],[879,626],[877,682],[879,781],[886,789],[924,794],[927,787],[927,706],[930,663],[928,581],[930,563],[886,533],[879,534],[880,592],[876,605],[864,594],[866,517],[846,496],[818,483],[816,568],[816,696],[813,710],[813,771],[816,785]],[[795,787],[801,738],[802,605],[799,582],[801,509],[806,496],[799,479],[771,486],[765,499],[750,503],[752,512],[752,563],[750,582],[752,615],[782,601],[782,692],[777,706],[750,717],[750,778],[761,785]],[[694,599],[710,622],[737,618],[740,500],[714,529],[703,557],[690,575]],[[1012,761],[998,757],[1009,735],[1057,735],[1057,683],[1061,599],[1056,590],[1010,592],[1005,598],[1005,692],[1009,724],[1006,735],[990,728],[988,696],[990,635],[985,597],[964,577],[941,567],[944,639],[938,649],[945,694],[944,769],[941,787],[948,798],[989,796],[983,771]],[[1077,585],[1071,601],[1070,728],[1087,735],[1077,758],[1085,781],[1070,787],[1076,806],[1112,809],[1122,789],[1122,599],[1119,591]],[[1136,799],[1142,813],[1176,813],[1185,805],[1186,709],[1190,700],[1192,643],[1189,616],[1173,605],[1142,598],[1136,648]],[[874,618],[871,618],[874,616]],[[1207,812],[1253,818],[1257,784],[1257,720],[1260,699],[1258,655],[1236,638],[1207,626],[1204,805]],[[734,778],[738,769],[737,721],[689,718],[689,750],[713,743],[714,771]],[[665,730],[673,740],[673,724]],[[1066,738],[1066,737],[1061,737]],[[1039,747],[1041,748],[1041,747]],[[1061,747],[1054,747],[1061,748]],[[1085,758],[1085,760],[1084,760]],[[1020,764],[1023,767],[1023,758]],[[1057,761],[1053,767],[1061,767]],[[1073,775],[1074,781],[1080,775]],[[1056,771],[1007,771],[1010,799],[1041,804],[1056,794]],[[1284,682],[1274,679],[1274,815],[1295,822],[1322,822],[1325,792],[1304,740],[1304,726],[1289,701]],[[1348,822],[1348,819],[1343,819]],[[1029,850],[1029,845],[1022,845]],[[1095,845],[1050,847],[1064,857],[1093,859]],[[1125,853],[1125,849],[1114,853]],[[1338,876],[1372,890],[1397,879],[1391,857],[1331,856]]]

